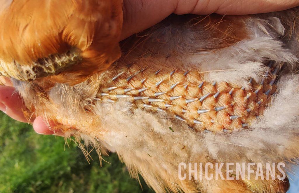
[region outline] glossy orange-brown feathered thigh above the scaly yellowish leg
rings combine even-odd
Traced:
[[[50,54],[77,48],[82,57],[54,82],[82,82],[108,68],[120,56],[122,1],[20,0],[7,2],[0,13],[3,62],[30,65]]]

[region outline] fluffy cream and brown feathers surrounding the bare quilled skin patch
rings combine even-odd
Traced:
[[[193,174],[191,180],[178,178],[181,162],[255,162],[265,166],[268,162],[294,163],[298,159],[297,50],[294,43],[287,44],[281,38],[288,29],[281,23],[280,16],[288,17],[288,11],[275,14],[276,17],[271,14],[212,16],[209,22],[203,23],[199,22],[203,21],[201,18],[194,16],[189,22],[188,16],[182,20],[182,25],[168,18],[122,42],[124,54],[114,67],[80,84],[57,83],[49,90],[35,81],[13,80],[14,85],[33,113],[55,120],[66,135],[73,134],[79,142],[83,139],[85,145],[94,146],[97,151],[102,146],[115,151],[132,177],[138,178],[138,173],[141,174],[156,192],[286,192],[288,180],[277,177],[271,180],[196,180]],[[221,23],[223,20],[227,22]],[[208,27],[211,23],[214,27]],[[219,36],[219,29],[228,30]],[[239,34],[242,38],[231,42],[229,37],[237,33],[236,29],[246,33]],[[257,81],[262,79],[267,70],[265,60],[285,62],[287,67],[280,74],[271,105],[248,129],[205,133],[193,130],[167,112],[132,108],[132,103],[126,99],[115,103],[95,101],[91,107],[90,101],[97,98],[98,89],[106,84],[106,77],[130,57],[149,58],[156,65],[167,62],[173,68],[208,71],[204,76],[207,81],[232,82],[246,89],[251,88],[249,77]],[[88,157],[88,152],[85,153]],[[225,172],[222,169],[222,173]]]

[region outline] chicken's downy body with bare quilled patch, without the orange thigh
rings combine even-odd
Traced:
[[[291,69],[297,58],[282,46],[283,30],[273,26],[281,27],[279,19],[170,17],[121,42],[123,56],[79,84],[13,83],[31,113],[73,135],[87,159],[81,139],[99,154],[103,146],[117,152],[132,177],[141,174],[156,192],[286,192],[288,180],[278,179],[278,170],[270,180],[255,180],[254,174],[251,180],[178,178],[181,162],[260,162],[265,167],[298,157],[298,124],[292,125],[299,114],[298,77],[282,68]],[[205,109],[209,112],[198,113]]]

